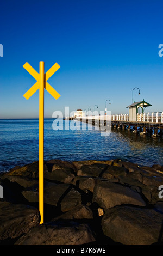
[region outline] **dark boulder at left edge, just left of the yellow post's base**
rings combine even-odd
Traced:
[[[0,240],[15,239],[40,222],[39,211],[29,205],[0,202]]]

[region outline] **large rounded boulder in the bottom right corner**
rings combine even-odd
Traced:
[[[115,206],[102,218],[104,235],[123,245],[152,245],[162,241],[162,212],[132,206]]]

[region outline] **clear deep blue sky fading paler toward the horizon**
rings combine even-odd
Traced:
[[[39,117],[39,91],[23,94],[39,72],[57,62],[48,82],[61,95],[45,92],[45,117],[77,108],[128,113],[128,105],[145,99],[149,112],[163,111],[162,0],[2,0],[0,9],[0,118]]]

